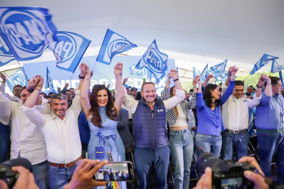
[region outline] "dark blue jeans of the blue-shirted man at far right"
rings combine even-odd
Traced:
[[[275,158],[278,182],[284,183],[284,132],[265,133],[257,130],[257,144],[260,148],[260,167],[266,177],[271,176],[272,156]]]

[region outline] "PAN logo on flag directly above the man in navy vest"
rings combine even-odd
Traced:
[[[156,51],[155,48],[149,48],[148,52],[143,55],[143,61],[148,63],[149,69],[151,69],[154,73],[162,72],[166,64],[164,64],[162,57]]]

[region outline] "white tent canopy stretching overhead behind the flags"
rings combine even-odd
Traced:
[[[277,62],[284,65],[283,0],[1,0],[1,6],[48,8],[58,31],[75,32],[92,41],[85,56],[98,54],[109,28],[138,45],[126,54],[142,55],[156,39],[159,49],[175,59],[176,66],[188,70],[225,59],[227,66],[252,69],[264,53],[278,56]],[[54,59],[46,50],[41,58],[20,63]],[[14,64],[17,62],[8,66]]]

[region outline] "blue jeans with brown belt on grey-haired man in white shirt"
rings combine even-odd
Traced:
[[[79,162],[68,168],[59,168],[49,165],[48,183],[51,189],[61,189],[69,183]]]

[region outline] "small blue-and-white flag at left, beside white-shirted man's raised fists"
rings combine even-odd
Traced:
[[[10,91],[13,91],[13,87],[15,85],[21,85],[22,87],[24,87],[28,84],[27,77],[25,76],[25,73],[22,69],[24,68],[18,69],[14,74],[10,75],[7,78],[6,82]]]

